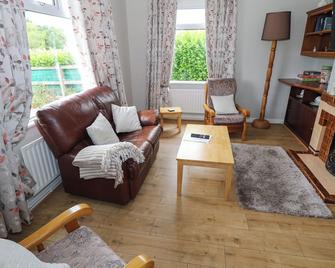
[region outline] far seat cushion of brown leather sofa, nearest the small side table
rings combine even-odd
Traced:
[[[120,134],[120,141],[144,141],[147,140],[154,145],[158,142],[159,137],[161,135],[161,127],[160,126],[145,126],[141,130],[137,130],[130,133]]]

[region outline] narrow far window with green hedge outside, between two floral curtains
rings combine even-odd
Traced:
[[[207,80],[205,9],[177,12],[172,80]]]

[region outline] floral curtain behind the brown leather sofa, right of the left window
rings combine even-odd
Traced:
[[[68,0],[83,80],[89,87],[109,86],[127,105],[111,2]]]

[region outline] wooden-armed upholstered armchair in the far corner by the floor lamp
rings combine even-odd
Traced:
[[[241,139],[247,139],[247,122],[250,111],[235,103],[239,113],[216,114],[211,96],[228,96],[236,94],[235,79],[208,79],[205,85],[205,124],[227,126],[229,133],[241,131]]]

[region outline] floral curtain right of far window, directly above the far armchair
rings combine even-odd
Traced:
[[[209,78],[234,78],[237,0],[206,1]]]

